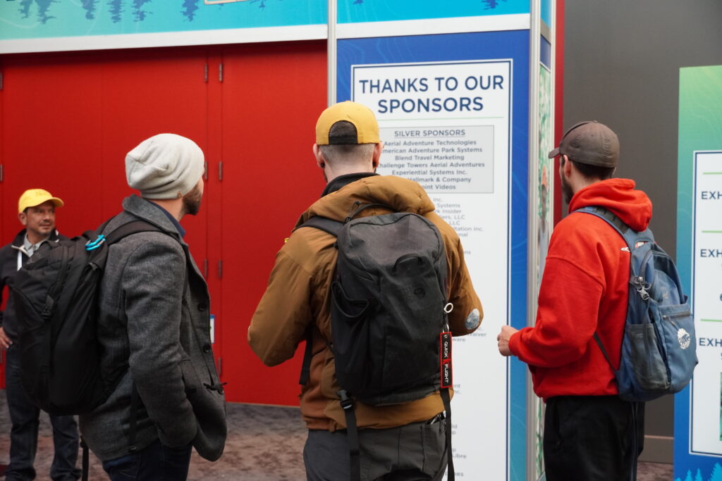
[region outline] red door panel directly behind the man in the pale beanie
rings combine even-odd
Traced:
[[[206,52],[201,49],[128,51],[97,63],[103,76],[101,178],[108,215],[120,211],[120,200],[131,192],[124,159],[143,139],[177,133],[206,150],[205,63]],[[181,221],[199,263],[206,257],[208,212],[204,205],[197,216]]]

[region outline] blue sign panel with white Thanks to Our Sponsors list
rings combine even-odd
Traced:
[[[526,327],[529,31],[339,40],[336,92],[375,112],[378,172],[425,188],[484,304],[479,330],[455,340],[457,475],[526,480],[526,366],[496,335]]]

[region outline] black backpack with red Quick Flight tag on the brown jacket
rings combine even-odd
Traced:
[[[448,480],[451,456],[451,332],[446,253],[437,227],[422,216],[393,212],[344,222],[312,217],[300,227],[334,235],[339,250],[331,284],[331,350],[347,420],[351,479],[360,479],[354,401],[393,405],[440,390],[446,412]],[[308,381],[310,340],[301,384]]]

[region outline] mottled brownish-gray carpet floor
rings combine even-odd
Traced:
[[[217,462],[207,462],[195,452],[188,480],[303,481],[305,427],[294,407],[229,403],[229,436],[225,453]],[[0,391],[0,464],[6,464],[10,443],[10,421],[5,392]],[[40,434],[35,469],[46,481],[53,460],[53,438],[48,415],[40,415]],[[95,456],[90,456],[90,480],[107,480]],[[640,463],[638,481],[671,481],[671,464]],[[483,475],[478,480],[483,480]],[[613,480],[610,480],[613,481]]]

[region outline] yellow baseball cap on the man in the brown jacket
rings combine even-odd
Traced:
[[[329,138],[334,123],[346,120],[356,128],[355,136]],[[316,144],[378,144],[378,122],[371,109],[357,102],[347,100],[331,105],[321,112],[316,123]]]

